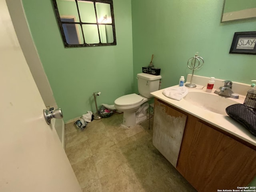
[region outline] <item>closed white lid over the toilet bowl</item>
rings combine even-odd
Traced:
[[[119,106],[131,106],[142,102],[143,98],[135,93],[124,95],[115,100],[115,104]]]

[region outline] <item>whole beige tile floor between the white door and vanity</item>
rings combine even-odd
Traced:
[[[134,127],[122,114],[66,124],[66,154],[83,192],[195,192],[152,145],[153,118]]]

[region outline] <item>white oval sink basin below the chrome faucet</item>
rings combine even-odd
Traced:
[[[226,107],[240,103],[230,98],[225,98],[217,94],[210,94],[206,92],[188,92],[188,94],[184,97],[184,100],[205,110],[222,115],[227,115]]]

